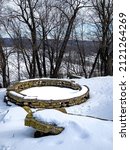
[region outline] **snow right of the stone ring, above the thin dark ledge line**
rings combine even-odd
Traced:
[[[75,79],[90,89],[90,98],[81,105],[67,108],[68,113],[90,115],[103,119],[113,119],[113,80],[111,76],[85,80]]]

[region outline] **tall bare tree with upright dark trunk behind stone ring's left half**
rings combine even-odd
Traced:
[[[37,46],[37,17],[36,7],[38,0],[13,0],[17,9],[13,10],[12,17],[16,17],[19,21],[26,24],[30,31],[32,42],[32,65],[30,66],[31,77],[36,76],[38,71],[39,77],[42,77],[42,69],[39,62],[38,46]]]

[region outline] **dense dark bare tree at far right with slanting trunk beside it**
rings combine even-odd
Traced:
[[[113,1],[112,0],[94,0],[92,1],[94,7],[95,18],[92,17],[96,26],[96,35],[99,40],[99,50],[95,58],[95,62],[90,73],[93,73],[95,64],[100,56],[101,59],[101,75],[112,75],[112,42],[113,42]]]

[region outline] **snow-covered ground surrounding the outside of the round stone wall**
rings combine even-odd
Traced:
[[[0,89],[0,150],[112,150],[113,122],[101,120],[112,120],[112,77],[75,81],[89,87],[90,98],[81,105],[67,108],[71,115],[45,111],[44,119],[60,123],[65,130],[59,135],[41,138],[33,138],[35,129],[24,126],[27,113],[23,108],[6,106],[3,102],[6,89]]]

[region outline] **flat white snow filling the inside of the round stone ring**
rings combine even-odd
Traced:
[[[56,86],[43,86],[28,88],[26,90],[21,91],[20,93],[29,97],[37,97],[37,99],[40,100],[64,100],[83,95],[88,91],[88,89],[85,86],[82,86],[81,88],[82,89],[79,91]]]

